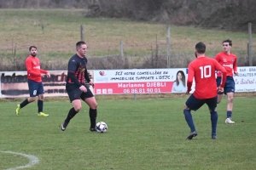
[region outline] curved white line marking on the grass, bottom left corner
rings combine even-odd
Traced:
[[[24,165],[24,166],[20,166],[20,167],[11,167],[11,168],[8,168],[8,169],[6,169],[6,170],[16,170],[16,169],[23,169],[23,168],[26,168],[26,167],[32,167],[32,166],[38,164],[38,162],[39,162],[39,159],[38,159],[37,156],[26,155],[26,154],[23,154],[23,153],[18,153],[18,152],[13,152],[13,151],[2,151],[2,150],[0,150],[0,152],[8,153],[8,154],[15,154],[15,155],[19,155],[19,156],[24,156],[24,157],[26,157],[27,159],[29,159],[28,164],[26,164],[26,165]]]

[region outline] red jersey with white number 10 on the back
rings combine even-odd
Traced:
[[[191,90],[193,78],[195,78],[194,96],[197,99],[210,99],[217,96],[217,83],[215,71],[223,73],[223,82],[220,87],[224,87],[226,81],[226,70],[218,64],[217,60],[208,57],[199,57],[189,64],[189,74],[187,87]]]

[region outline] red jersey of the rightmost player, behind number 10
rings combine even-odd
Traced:
[[[226,54],[225,52],[221,52],[215,56],[215,59],[218,63],[227,71],[228,77],[233,77],[233,72],[237,71],[237,58],[235,54]],[[221,72],[217,72],[217,76],[221,77]]]

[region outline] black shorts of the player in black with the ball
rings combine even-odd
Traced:
[[[91,98],[94,95],[91,93],[90,88],[88,88],[86,85],[84,87],[87,89],[87,92],[83,92],[80,90],[80,88],[75,87],[74,85],[69,85],[66,84],[66,90],[67,90],[67,95],[70,99],[70,102],[73,102],[75,99],[87,99]]]

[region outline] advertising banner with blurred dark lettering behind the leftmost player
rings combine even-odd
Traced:
[[[49,71],[49,74],[50,77],[42,74],[44,96],[67,96],[67,71]],[[1,98],[29,97],[26,71],[4,71],[0,77]],[[93,78],[93,71],[89,71],[89,77]],[[94,93],[93,88],[90,90]]]

